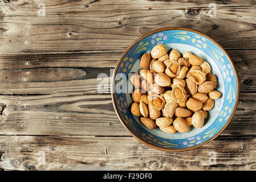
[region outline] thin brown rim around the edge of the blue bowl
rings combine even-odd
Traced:
[[[209,40],[211,40],[214,44],[216,44],[224,53],[225,55],[227,56],[227,58],[229,59],[231,65],[233,66],[234,68],[234,75],[235,75],[235,78],[236,78],[236,84],[237,84],[237,96],[236,96],[236,100],[235,100],[235,105],[234,105],[234,109],[232,111],[232,113],[230,114],[230,117],[229,119],[227,120],[227,122],[225,123],[225,125],[222,127],[222,129],[220,131],[218,131],[218,133],[216,133],[212,138],[206,140],[205,142],[203,143],[200,143],[198,144],[197,146],[192,146],[192,147],[188,147],[188,148],[180,148],[180,149],[175,149],[175,148],[164,148],[164,147],[159,147],[159,146],[155,146],[151,143],[148,143],[146,142],[145,140],[137,137],[136,134],[133,133],[132,130],[130,130],[128,128],[128,126],[125,124],[125,122],[123,121],[123,119],[121,118],[121,115],[117,109],[117,106],[116,106],[116,102],[115,102],[115,77],[116,77],[116,73],[117,73],[117,69],[119,68],[119,65],[121,63],[121,61],[124,59],[125,55],[127,55],[128,51],[138,42],[140,42],[140,40],[146,38],[147,36],[149,35],[152,35],[152,34],[155,34],[157,32],[161,32],[161,31],[168,31],[168,30],[184,30],[184,31],[190,31],[190,32],[194,32],[196,34],[199,34],[199,35],[202,35],[202,36],[205,36],[206,38],[208,38]],[[139,140],[139,142],[149,146],[149,147],[152,147],[152,148],[155,148],[157,150],[161,150],[161,151],[169,151],[169,152],[181,152],[181,151],[189,151],[189,150],[193,150],[193,149],[196,149],[198,147],[201,147],[203,146],[204,144],[207,144],[209,142],[211,142],[213,139],[215,139],[216,137],[218,137],[218,135],[220,135],[222,133],[222,131],[226,128],[226,126],[229,124],[229,122],[231,121],[231,119],[233,118],[234,116],[234,113],[235,111],[237,110],[237,105],[238,105],[238,100],[239,100],[239,80],[238,80],[238,74],[237,74],[237,70],[235,69],[235,65],[233,63],[233,61],[231,60],[230,56],[228,55],[228,53],[225,51],[225,49],[220,45],[218,44],[215,40],[213,40],[212,38],[210,38],[210,36],[208,35],[205,35],[204,33],[198,31],[198,30],[194,30],[192,28],[185,28],[185,27],[165,27],[165,28],[160,28],[160,29],[157,29],[157,30],[153,30],[151,32],[148,32],[147,34],[144,34],[142,36],[140,36],[137,40],[135,40],[135,42],[133,42],[131,45],[129,45],[125,51],[123,52],[123,54],[120,56],[119,60],[117,61],[117,64],[116,64],[116,67],[115,67],[115,70],[113,71],[113,75],[112,75],[112,82],[111,82],[111,97],[112,97],[112,103],[113,103],[113,106],[114,106],[114,109],[115,109],[115,112],[117,114],[117,117],[119,118],[119,121],[123,124],[123,126],[125,127],[125,129],[127,129],[127,131],[134,137],[136,138],[137,140]]]

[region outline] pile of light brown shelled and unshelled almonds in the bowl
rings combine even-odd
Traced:
[[[214,90],[217,79],[210,65],[201,57],[172,49],[169,55],[164,45],[144,53],[140,74],[129,80],[135,86],[131,112],[153,130],[157,126],[166,133],[186,133],[191,125],[201,128],[221,93]],[[149,68],[149,69],[148,69]]]

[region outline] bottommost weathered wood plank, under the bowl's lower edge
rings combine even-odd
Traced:
[[[196,150],[164,152],[132,137],[1,136],[0,167],[17,170],[255,170],[255,142],[255,137],[217,137]],[[213,152],[216,163],[211,159]]]

